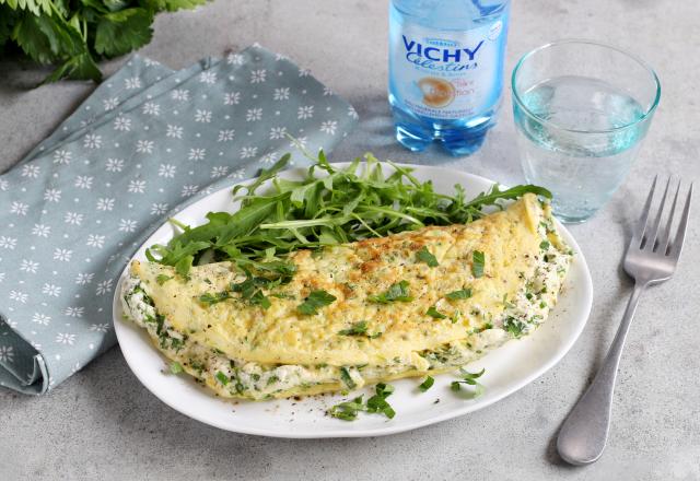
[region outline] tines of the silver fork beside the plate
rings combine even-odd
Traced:
[[[676,206],[678,204],[678,196],[680,193],[681,183],[680,180],[678,180],[678,185],[675,188],[676,192],[673,195],[670,210],[667,210],[666,199],[669,197],[668,191],[672,189],[670,177],[668,177],[666,187],[664,189],[664,195],[658,202],[656,215],[652,216],[652,203],[654,200],[654,190],[656,189],[657,180],[658,176],[654,177],[652,188],[649,191],[649,197],[646,197],[646,202],[644,203],[642,216],[639,220],[639,224],[637,225],[634,235],[632,236],[630,247],[637,247],[639,249],[652,251],[661,256],[670,256],[677,260],[680,256],[680,249],[682,248],[684,239],[686,238],[686,227],[688,225],[688,215],[690,214],[690,199],[692,198],[692,183],[690,183],[688,193],[686,195],[685,206],[682,209],[682,214],[680,215],[678,226],[674,236],[672,237],[672,226],[674,224]],[[662,223],[664,216],[666,218],[665,225],[663,225]]]

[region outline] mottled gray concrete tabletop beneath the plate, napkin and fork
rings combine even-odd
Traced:
[[[442,163],[503,183],[522,181],[510,91],[502,120],[472,157],[411,155],[390,137],[386,84],[386,1],[223,1],[162,15],[142,54],[172,67],[253,42],[284,52],[350,99],[361,125],[335,153]],[[595,285],[581,339],[559,365],[510,398],[474,414],[389,437],[281,441],[236,435],[162,404],[118,349],[49,396],[0,391],[0,480],[698,480],[700,479],[700,207],[676,277],[642,300],[622,361],[604,457],[571,468],[558,459],[560,423],[603,359],[631,283],[619,268],[653,174],[700,180],[696,1],[515,1],[506,70],[539,44],[588,37],[637,52],[654,66],[663,99],[625,186],[595,219],[572,232]],[[113,71],[124,60],[106,66]],[[0,171],[10,167],[94,87],[62,82],[27,90],[42,72],[0,64]]]

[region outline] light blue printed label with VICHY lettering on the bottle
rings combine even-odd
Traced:
[[[404,23],[389,35],[393,93],[415,114],[468,118],[498,101],[505,42],[501,20],[466,32]]]

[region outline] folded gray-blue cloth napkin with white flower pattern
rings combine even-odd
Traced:
[[[0,385],[46,392],[112,347],[116,280],[164,219],[355,119],[257,45],[179,71],[131,58],[0,176]]]

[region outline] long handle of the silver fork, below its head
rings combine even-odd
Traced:
[[[595,462],[605,449],[610,429],[617,368],[620,364],[632,316],[634,316],[637,304],[646,285],[645,282],[634,284],[622,322],[605,356],[603,367],[561,426],[557,438],[557,450],[562,459],[569,464],[580,466]]]

